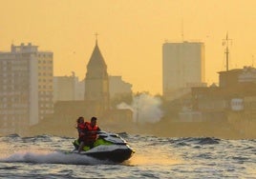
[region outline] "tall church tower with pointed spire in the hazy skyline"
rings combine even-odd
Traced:
[[[84,100],[96,104],[96,108],[106,110],[109,109],[110,106],[109,96],[109,75],[107,72],[107,65],[98,49],[96,39],[96,47],[87,65]]]

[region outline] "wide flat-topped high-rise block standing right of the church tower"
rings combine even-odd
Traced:
[[[206,86],[204,44],[201,42],[162,45],[162,94],[175,98],[181,89]]]

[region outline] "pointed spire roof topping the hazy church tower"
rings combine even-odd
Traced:
[[[104,60],[100,50],[98,49],[97,40],[96,40],[96,47],[92,53],[92,56],[88,63],[88,67],[106,67],[106,66],[107,65],[105,63],[105,60]]]

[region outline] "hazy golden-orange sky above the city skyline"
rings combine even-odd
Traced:
[[[82,80],[98,46],[110,75],[133,90],[161,93],[161,46],[205,43],[206,82],[225,70],[223,39],[232,39],[229,69],[256,66],[255,0],[0,0],[0,50],[32,42],[54,53],[54,75]],[[255,60],[253,60],[253,56]],[[253,62],[254,61],[254,62]]]

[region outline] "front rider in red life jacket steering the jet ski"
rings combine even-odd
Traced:
[[[84,144],[90,148],[94,147],[94,142],[96,142],[97,131],[100,129],[96,125],[96,117],[91,118],[91,123],[86,123],[85,125],[85,137]]]

